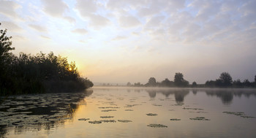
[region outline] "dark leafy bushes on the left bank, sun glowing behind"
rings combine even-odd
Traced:
[[[1,23],[0,23],[1,26]],[[11,53],[12,37],[7,29],[0,30],[0,96],[61,91],[81,91],[94,84],[80,77],[75,61],[67,58],[37,53],[31,55]]]

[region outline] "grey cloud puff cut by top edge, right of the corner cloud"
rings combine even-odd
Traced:
[[[41,0],[44,11],[53,17],[62,17],[64,12],[68,9],[67,4],[61,0]]]

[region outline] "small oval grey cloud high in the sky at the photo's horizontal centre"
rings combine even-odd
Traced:
[[[124,28],[136,27],[140,25],[140,21],[134,16],[121,16],[119,18],[120,26]]]

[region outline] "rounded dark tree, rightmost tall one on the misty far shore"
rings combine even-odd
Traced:
[[[222,72],[217,80],[217,86],[230,87],[232,85],[232,77],[228,72]]]

